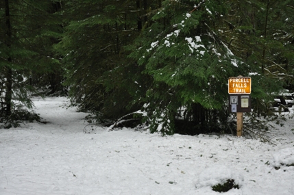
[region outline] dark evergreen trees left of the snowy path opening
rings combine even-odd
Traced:
[[[0,82],[1,116],[12,113],[12,99],[32,107],[29,79],[34,72],[50,69],[58,60],[53,53],[51,38],[58,35],[59,16],[50,14],[53,1],[0,2]]]

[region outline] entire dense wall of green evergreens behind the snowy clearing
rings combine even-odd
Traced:
[[[64,77],[71,101],[99,120],[135,112],[151,132],[223,131],[229,128],[228,77],[252,77],[256,114],[267,112],[272,92],[294,90],[291,0],[0,5],[6,115],[12,96],[29,102],[27,95],[16,95],[27,94],[29,79],[44,84],[50,78],[57,86]]]

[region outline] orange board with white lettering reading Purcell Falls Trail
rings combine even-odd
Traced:
[[[251,94],[251,77],[230,77],[229,94]]]

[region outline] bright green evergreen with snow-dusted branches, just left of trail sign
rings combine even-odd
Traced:
[[[226,5],[219,1],[199,3],[191,12],[194,4],[164,1],[160,12],[151,17],[154,23],[136,40],[138,49],[130,54],[153,79],[146,94],[151,103],[148,109],[153,107],[150,117],[156,116],[151,120],[151,132],[161,127],[158,121],[173,124],[177,112],[171,110],[179,107],[192,109],[191,105],[199,104],[203,109],[222,109],[228,96],[228,77],[249,73],[215,33],[214,25],[226,13]],[[212,11],[217,15],[210,14]],[[205,127],[206,122],[196,124]],[[170,126],[173,131],[174,125]]]

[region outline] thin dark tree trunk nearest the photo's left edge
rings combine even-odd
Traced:
[[[5,0],[5,20],[6,20],[6,35],[8,36],[8,41],[6,42],[6,45],[8,48],[11,47],[11,38],[12,38],[12,32],[11,32],[11,25],[10,25],[10,10],[9,10],[9,0]],[[11,64],[12,58],[8,57],[8,62]],[[5,103],[6,103],[6,116],[9,116],[11,114],[11,101],[12,101],[12,68],[6,66],[6,93],[5,93]]]

